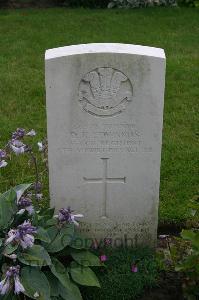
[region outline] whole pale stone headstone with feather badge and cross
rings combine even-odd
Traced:
[[[45,60],[51,205],[83,213],[89,237],[154,245],[164,50],[75,45]]]

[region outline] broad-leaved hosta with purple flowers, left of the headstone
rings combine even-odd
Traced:
[[[76,230],[76,219],[83,215],[69,207],[57,215],[54,208],[39,208],[37,160],[24,143],[25,135],[35,134],[17,129],[0,150],[0,169],[6,167],[10,149],[17,155],[30,154],[36,173],[34,184],[21,184],[0,195],[1,299],[80,300],[80,285],[100,287],[91,267],[103,264],[89,251],[92,241]],[[43,143],[38,146],[45,150]]]

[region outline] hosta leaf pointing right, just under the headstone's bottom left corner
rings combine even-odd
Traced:
[[[88,250],[72,250],[71,256],[78,264],[85,267],[102,266],[100,259]]]

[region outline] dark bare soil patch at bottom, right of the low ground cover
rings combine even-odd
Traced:
[[[158,287],[145,292],[139,300],[183,300],[181,278],[175,272],[162,272]]]

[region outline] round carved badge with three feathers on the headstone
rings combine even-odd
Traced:
[[[113,68],[97,68],[87,73],[79,85],[79,102],[88,113],[114,116],[132,101],[133,87],[128,77]]]

